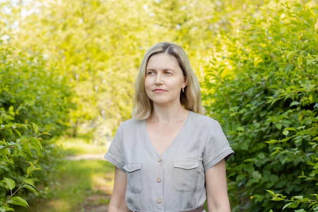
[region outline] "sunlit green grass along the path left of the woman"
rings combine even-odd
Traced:
[[[63,138],[57,142],[66,155],[105,154],[106,147],[82,138]],[[65,160],[48,188],[47,199],[28,201],[17,212],[99,212],[106,211],[113,188],[114,168],[106,160]]]

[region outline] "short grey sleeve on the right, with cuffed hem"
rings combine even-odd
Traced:
[[[206,141],[203,154],[205,171],[223,159],[227,161],[234,154],[219,123],[212,119],[210,128],[211,133]]]

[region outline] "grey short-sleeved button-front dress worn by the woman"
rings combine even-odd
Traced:
[[[104,158],[126,173],[130,210],[172,212],[203,206],[204,172],[233,154],[216,120],[189,111],[164,154],[153,147],[146,120],[129,119],[118,127]]]

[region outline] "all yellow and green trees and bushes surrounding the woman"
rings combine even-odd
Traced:
[[[187,52],[207,115],[220,122],[236,152],[227,163],[232,211],[280,211],[286,202],[279,194],[297,196],[284,211],[309,210],[318,188],[317,5],[1,0],[1,202],[10,196],[4,177],[20,183],[25,161],[39,159],[44,169],[32,178],[45,192],[20,194],[31,201],[49,196],[66,155],[107,149],[131,117],[143,54],[168,41]],[[44,150],[28,147],[32,157],[18,148],[19,133],[9,124],[29,122],[52,135],[41,140]],[[18,132],[34,136],[23,127]],[[90,146],[80,148],[83,140]],[[282,201],[269,200],[265,190]]]

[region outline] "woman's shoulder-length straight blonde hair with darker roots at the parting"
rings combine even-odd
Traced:
[[[174,56],[179,63],[183,75],[188,78],[188,84],[184,88],[184,92],[180,94],[181,105],[188,110],[193,112],[204,114],[205,110],[201,104],[201,92],[199,81],[193,72],[189,59],[184,52],[184,50],[172,43],[161,42],[152,46],[145,54],[139,73],[135,81],[135,94],[133,98],[133,110],[132,117],[136,119],[146,119],[150,116],[153,105],[152,101],[148,98],[145,90],[145,77],[146,77],[146,67],[148,60],[151,56],[160,53],[168,53]]]

